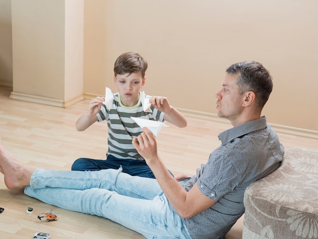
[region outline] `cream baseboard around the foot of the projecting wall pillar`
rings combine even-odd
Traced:
[[[74,105],[74,104],[84,100],[83,95],[77,96],[77,97],[70,99],[70,100],[67,100],[67,101],[63,101],[63,100],[57,100],[57,99],[52,99],[52,98],[47,98],[47,97],[42,97],[42,96],[34,96],[34,95],[29,95],[29,94],[24,94],[24,93],[19,93],[19,92],[11,92],[9,98],[14,99],[14,100],[22,100],[22,101],[27,101],[27,102],[57,106],[57,107],[62,107],[62,108],[67,108],[71,105]]]

